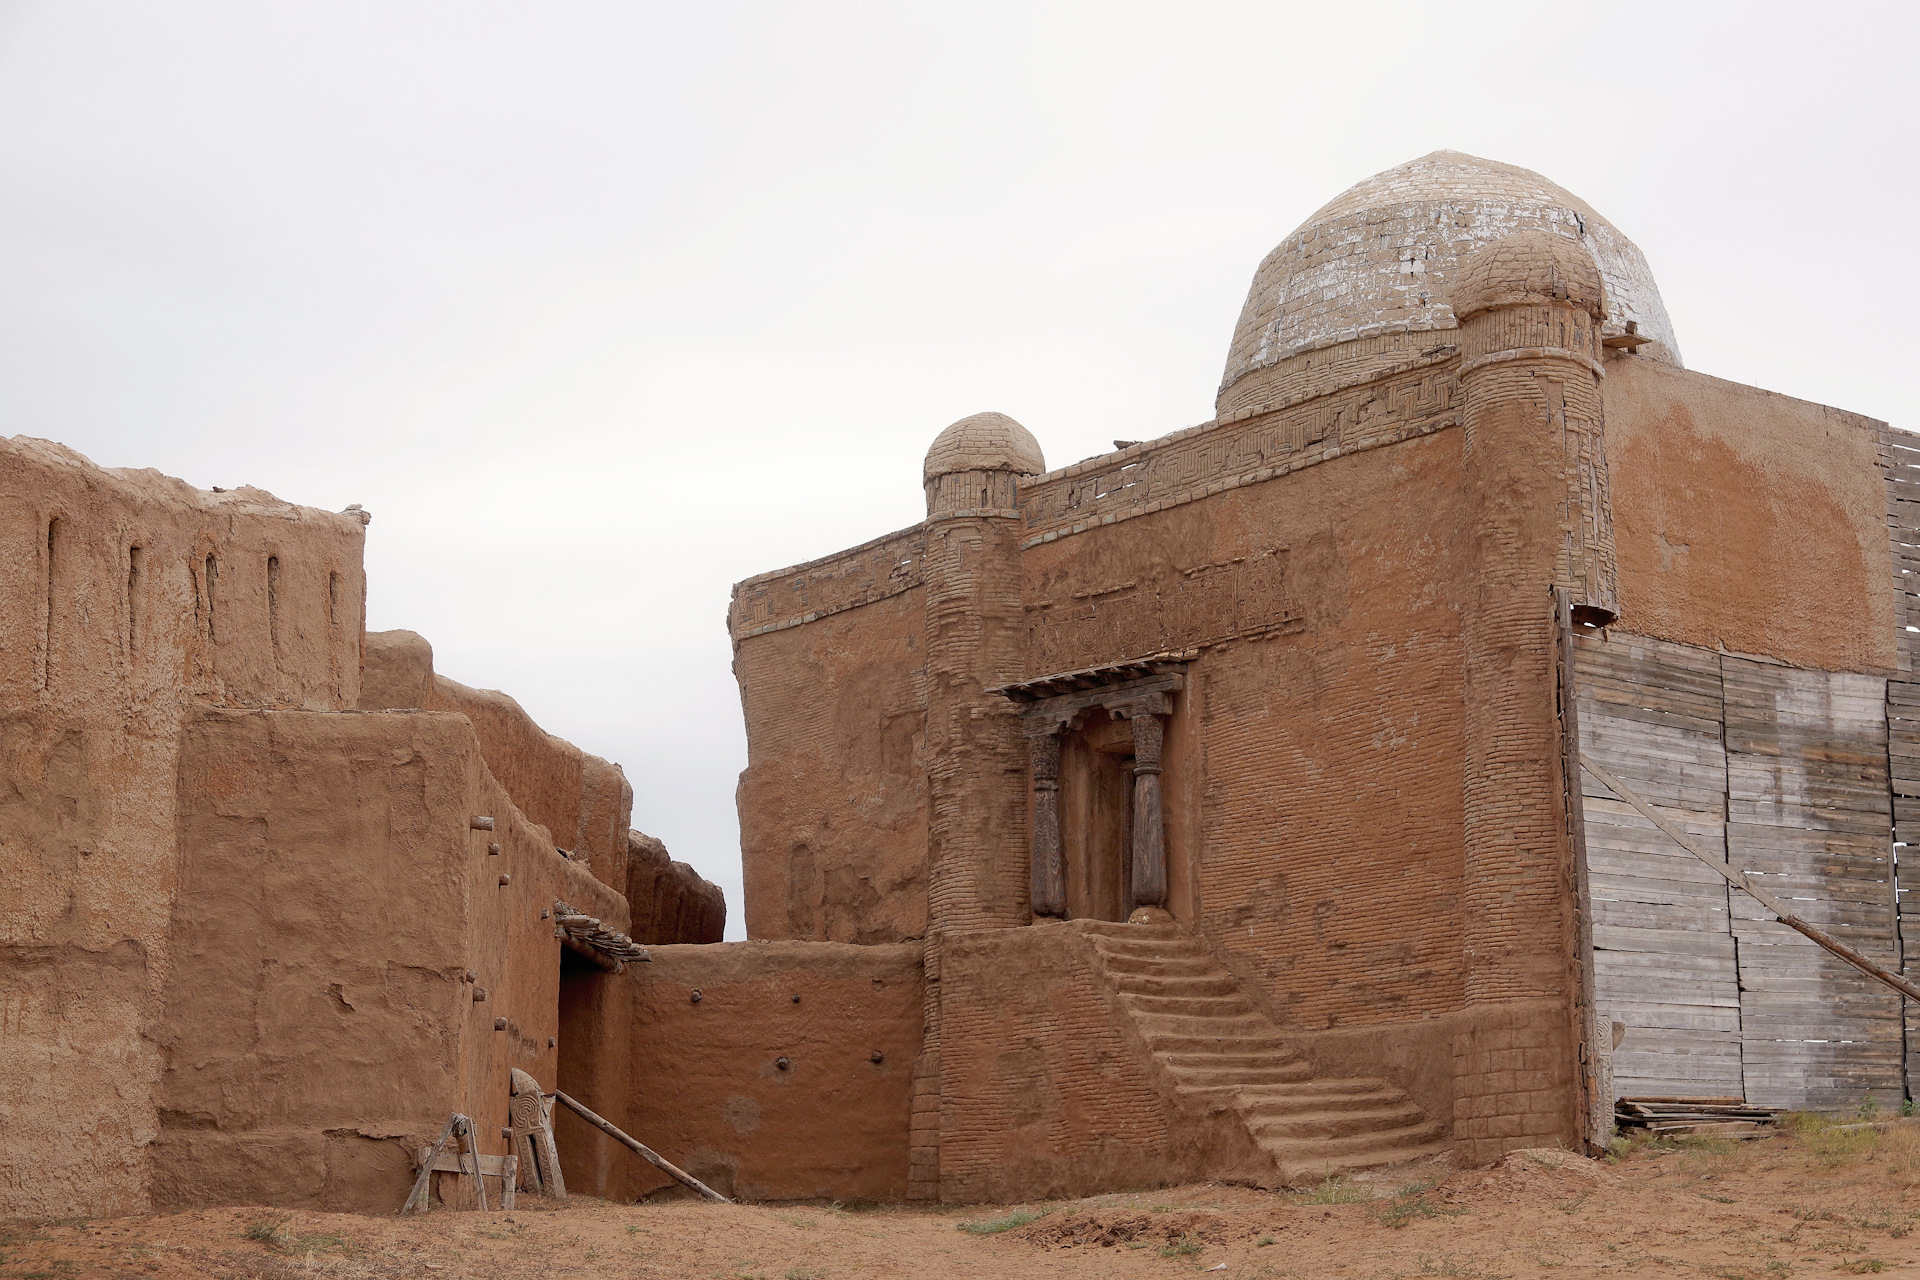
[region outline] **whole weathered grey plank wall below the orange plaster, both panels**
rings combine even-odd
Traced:
[[[1899,961],[1887,681],[1620,633],[1578,641],[1576,679],[1584,752],[1811,921]],[[1897,1103],[1901,1000],[1584,785],[1596,1004],[1626,1023],[1617,1094]]]

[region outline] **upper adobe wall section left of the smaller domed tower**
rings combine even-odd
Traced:
[[[914,528],[735,587],[753,938],[927,929],[924,551]]]

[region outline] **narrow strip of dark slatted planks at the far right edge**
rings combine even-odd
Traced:
[[[1920,846],[1920,438],[1882,428],[1887,533],[1893,543],[1893,626],[1899,674],[1887,681],[1887,771],[1893,787],[1893,852]],[[1905,879],[1905,875],[1903,875]],[[1920,977],[1920,894],[1899,894],[1901,973]],[[1920,1004],[1907,1000],[1907,1094],[1920,1096]]]

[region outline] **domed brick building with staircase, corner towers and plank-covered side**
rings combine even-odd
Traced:
[[[948,426],[922,524],[730,614],[751,935],[924,996],[849,1163],[1298,1184],[1903,1098],[1899,998],[1580,762],[1897,963],[1905,457],[1686,370],[1624,234],[1457,152],[1260,263],[1213,420],[1056,470]]]

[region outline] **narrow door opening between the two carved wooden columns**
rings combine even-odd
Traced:
[[[1133,725],[1089,712],[1060,743],[1060,854],[1068,919],[1133,912]]]

